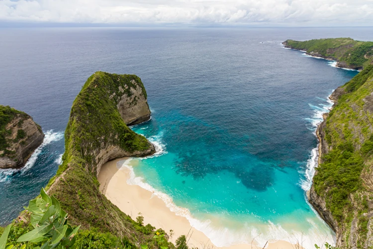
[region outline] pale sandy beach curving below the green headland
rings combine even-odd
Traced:
[[[127,158],[119,158],[109,161],[102,165],[98,175],[100,183],[100,191],[116,205],[125,214],[128,214],[132,219],[136,219],[138,213],[144,217],[144,224],[151,224],[156,228],[162,228],[168,234],[172,229],[174,236],[171,241],[175,243],[176,239],[181,235],[187,235],[189,230],[191,237],[188,245],[198,248],[217,248],[209,238],[202,232],[191,228],[187,218],[176,215],[165,204],[163,200],[158,198],[154,193],[141,188],[138,185],[129,185],[127,180],[130,178],[131,170],[127,167],[117,168],[116,163]],[[133,162],[133,161],[131,161]],[[136,165],[133,165],[136,166]],[[233,245],[230,247],[219,247],[220,249],[257,249],[264,248],[265,245]],[[295,249],[295,245],[291,245],[285,241],[267,244],[268,249]]]

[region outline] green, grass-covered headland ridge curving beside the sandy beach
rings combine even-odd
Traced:
[[[73,225],[98,228],[133,244],[145,240],[136,223],[100,193],[96,176],[108,160],[155,152],[144,136],[126,125],[149,118],[139,77],[96,72],[87,80],[71,109],[63,163],[47,186]]]

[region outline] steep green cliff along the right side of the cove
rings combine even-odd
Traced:
[[[319,166],[308,198],[338,248],[373,247],[373,66],[332,94],[317,129]]]

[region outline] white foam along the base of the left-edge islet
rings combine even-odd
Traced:
[[[19,168],[19,169],[0,169],[0,182],[10,180],[11,176],[15,173],[19,172],[20,174],[24,174],[25,172],[27,172],[29,169],[31,169],[34,166],[34,164],[36,162],[36,159],[38,158],[42,149],[46,145],[50,144],[51,142],[61,140],[63,137],[64,137],[64,132],[53,132],[52,129],[45,132],[43,142],[40,144],[39,147],[37,147],[35,149],[34,153],[30,156],[30,158],[27,160],[26,164],[22,168]],[[60,157],[61,157],[61,159],[60,159]],[[57,162],[57,160],[58,160],[58,162]],[[58,158],[56,158],[55,162],[59,163],[60,161],[62,162],[62,155],[60,155]]]

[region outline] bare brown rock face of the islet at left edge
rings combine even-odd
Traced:
[[[22,167],[43,142],[44,133],[28,115],[15,115],[5,125],[7,147],[0,151],[0,168]]]

